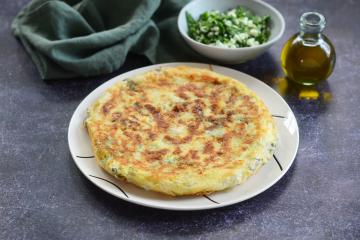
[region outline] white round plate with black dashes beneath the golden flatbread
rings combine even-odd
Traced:
[[[142,190],[125,181],[117,180],[104,172],[96,164],[90,140],[83,121],[87,108],[115,82],[122,81],[158,67],[187,65],[210,68],[213,71],[238,79],[255,91],[270,109],[279,131],[279,142],[275,154],[260,171],[244,184],[230,190],[210,195],[193,197],[168,197],[151,191]],[[299,129],[295,116],[286,102],[269,86],[242,72],[208,64],[167,63],[139,68],[121,74],[91,92],[75,110],[68,131],[71,155],[80,171],[99,188],[129,202],[143,206],[170,210],[200,210],[224,207],[254,197],[274,185],[289,170],[299,145]]]

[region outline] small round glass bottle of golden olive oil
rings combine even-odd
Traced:
[[[302,85],[314,85],[330,76],[335,65],[335,49],[322,33],[326,22],[316,12],[300,18],[300,32],[284,45],[281,64],[286,77]]]

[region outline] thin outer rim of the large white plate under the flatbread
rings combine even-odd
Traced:
[[[181,66],[181,65],[189,65],[189,66],[194,66],[196,65],[195,67],[199,67],[199,68],[206,68],[206,69],[209,69],[209,68],[222,68],[224,70],[231,70],[231,71],[235,71],[237,73],[240,73],[242,75],[245,75],[246,77],[252,79],[252,80],[255,80],[257,81],[260,85],[263,85],[264,87],[266,87],[267,90],[271,91],[273,94],[276,95],[277,98],[279,98],[282,103],[288,108],[288,110],[291,112],[291,114],[293,115],[293,118],[294,118],[294,121],[295,121],[295,125],[296,125],[296,131],[295,131],[295,137],[296,137],[296,146],[295,146],[295,151],[294,153],[292,154],[291,156],[291,160],[289,161],[289,164],[282,169],[281,173],[279,174],[279,176],[277,176],[276,178],[274,178],[274,180],[272,180],[270,183],[268,183],[267,185],[265,185],[264,187],[258,189],[257,191],[251,193],[251,194],[248,194],[247,197],[241,199],[241,200],[238,200],[238,199],[232,199],[232,200],[229,200],[227,202],[224,202],[224,203],[219,203],[219,204],[213,204],[213,205],[206,205],[204,207],[202,206],[194,206],[194,207],[191,207],[191,206],[186,206],[186,207],[179,207],[179,206],[163,206],[161,204],[158,204],[158,205],[153,205],[153,204],[148,204],[146,202],[142,202],[142,201],[137,201],[137,200],[134,200],[132,198],[125,198],[125,197],[121,197],[120,195],[117,195],[111,191],[108,191],[106,188],[103,188],[101,186],[101,184],[99,183],[99,181],[95,181],[94,179],[90,178],[89,174],[85,173],[83,171],[83,169],[79,166],[77,160],[76,160],[76,155],[73,153],[72,151],[72,147],[71,147],[71,143],[70,143],[70,130],[71,130],[71,126],[72,124],[74,124],[73,122],[75,122],[75,118],[76,118],[76,113],[78,111],[80,111],[80,106],[82,104],[84,104],[85,100],[90,96],[92,95],[95,91],[98,91],[99,88],[102,88],[103,85],[105,84],[110,84],[110,82],[113,82],[113,81],[116,81],[116,79],[120,78],[122,75],[125,75],[125,74],[131,74],[133,72],[145,72],[147,70],[151,70],[151,69],[154,69],[154,68],[159,68],[159,67],[166,67],[166,66]],[[140,74],[140,73],[139,73]],[[120,80],[121,81],[121,80]],[[241,82],[241,80],[238,80]],[[115,83],[114,83],[115,84]],[[107,87],[110,87],[110,86],[107,86]],[[284,175],[288,172],[288,170],[291,168],[291,166],[293,165],[294,161],[295,161],[295,158],[296,158],[296,154],[298,152],[298,148],[299,148],[299,140],[300,140],[300,137],[299,137],[299,126],[298,126],[298,123],[297,123],[297,120],[296,120],[296,117],[295,117],[295,114],[294,112],[292,111],[292,109],[290,108],[290,106],[287,104],[287,102],[281,97],[281,95],[276,92],[272,87],[268,86],[266,83],[264,83],[263,81],[249,75],[249,74],[246,74],[244,72],[241,72],[239,70],[236,70],[236,69],[233,69],[233,68],[229,68],[229,67],[224,67],[224,66],[220,66],[220,65],[215,65],[215,64],[208,64],[208,63],[199,63],[199,62],[168,62],[168,63],[161,63],[161,64],[154,64],[154,65],[148,65],[148,66],[144,66],[144,67],[140,67],[140,68],[135,68],[135,69],[132,69],[130,71],[127,71],[127,72],[123,72],[117,76],[114,76],[112,77],[111,79],[103,82],[102,84],[100,84],[99,86],[97,86],[95,89],[93,89],[90,93],[88,93],[86,95],[85,98],[83,98],[80,103],[77,105],[76,109],[74,110],[72,116],[71,116],[71,119],[70,119],[70,122],[69,122],[69,125],[68,125],[68,134],[67,134],[67,138],[68,138],[68,146],[69,146],[69,150],[70,150],[70,154],[71,154],[71,157],[73,158],[73,161],[75,162],[75,165],[77,166],[77,168],[80,170],[80,172],[90,181],[92,182],[95,186],[97,186],[98,188],[100,188],[102,191],[105,191],[107,192],[108,194],[111,194],[112,196],[118,198],[118,199],[121,199],[121,200],[124,200],[124,201],[127,201],[127,202],[130,202],[130,203],[133,203],[133,204],[137,204],[137,205],[141,205],[141,206],[145,206],[145,207],[150,207],[150,208],[155,208],[155,209],[162,209],[162,210],[173,210],[173,211],[198,211],[198,210],[208,210],[208,209],[215,209],[215,208],[222,208],[222,207],[226,207],[226,206],[229,206],[229,205],[233,205],[233,204],[236,204],[236,203],[240,203],[240,202],[243,202],[243,201],[246,201],[248,199],[251,199],[261,193],[263,193],[264,191],[266,191],[267,189],[271,188],[272,186],[274,186],[282,177],[284,177]],[[144,190],[145,191],[145,190]]]

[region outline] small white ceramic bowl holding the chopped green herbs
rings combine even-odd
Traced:
[[[256,15],[270,16],[271,35],[266,43],[254,47],[223,48],[197,42],[188,36],[186,12],[190,13],[195,19],[198,19],[205,11],[219,10],[224,12],[237,6],[250,9]],[[194,0],[180,11],[178,28],[184,40],[201,55],[221,63],[235,64],[256,58],[276,43],[284,33],[285,21],[279,11],[260,0]]]

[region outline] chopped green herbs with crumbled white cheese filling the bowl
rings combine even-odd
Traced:
[[[207,11],[195,20],[186,13],[188,34],[195,41],[226,48],[252,47],[268,41],[270,17],[236,7],[227,12]]]

